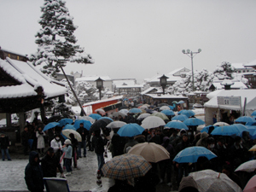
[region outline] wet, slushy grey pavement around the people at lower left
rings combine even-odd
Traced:
[[[10,153],[11,161],[0,162],[0,192],[7,191],[28,191],[24,180],[24,171],[28,163],[28,155]],[[111,159],[108,153],[106,161]],[[97,160],[95,152],[87,151],[86,158],[78,160],[78,169],[73,169],[73,174],[67,176],[67,183],[70,191],[92,191],[107,192],[113,185],[113,179],[102,177],[102,187],[96,184]],[[166,183],[157,185],[157,192],[170,192],[172,188]]]

